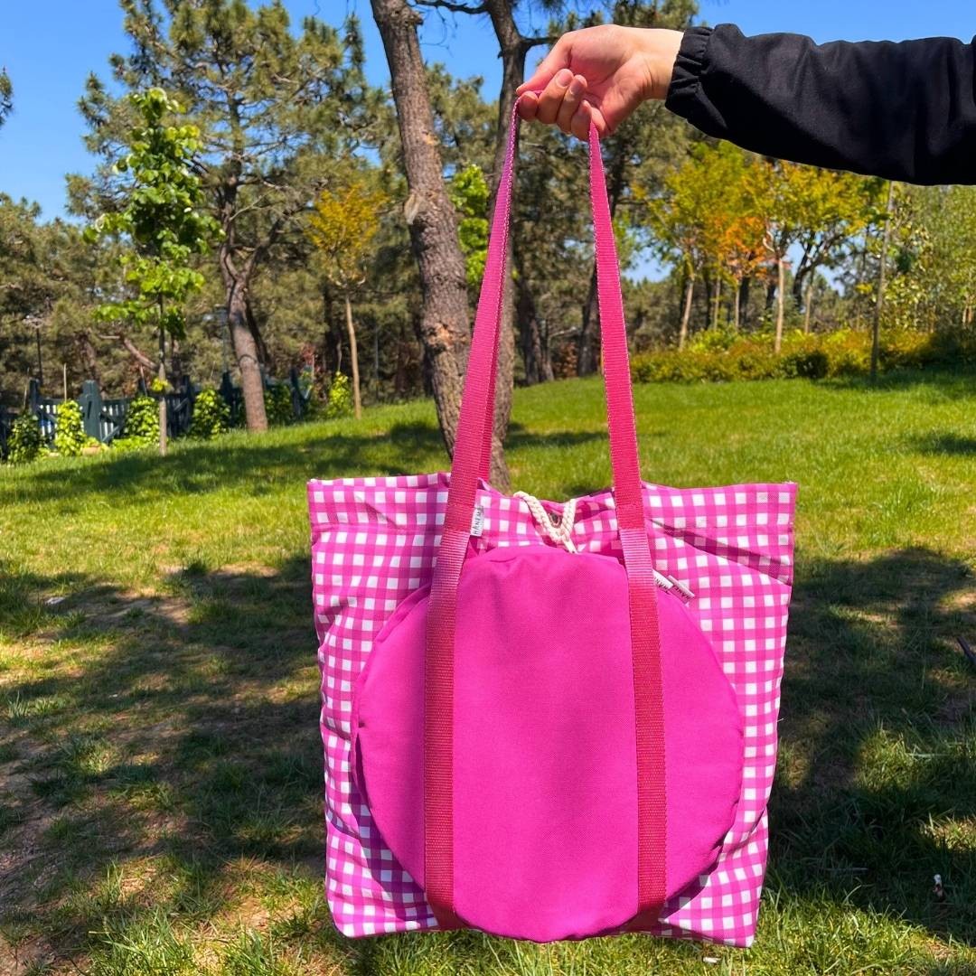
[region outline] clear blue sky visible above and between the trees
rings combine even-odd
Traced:
[[[63,210],[64,173],[93,168],[76,102],[87,74],[107,77],[108,55],[126,50],[122,15],[115,0],[14,0],[4,6],[0,64],[14,82],[15,112],[0,129],[0,191],[36,200],[46,217],[54,217]],[[368,0],[286,0],[286,6],[296,21],[317,14],[338,22],[355,11],[366,30],[372,80],[386,79]],[[793,30],[818,41],[933,34],[968,41],[976,34],[973,0],[701,0],[701,7],[709,23],[737,23],[747,33]],[[428,16],[427,59],[445,62],[458,75],[483,75],[489,93],[500,77],[493,44],[486,18]]]

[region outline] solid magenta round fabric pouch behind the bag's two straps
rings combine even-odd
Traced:
[[[383,841],[424,885],[427,588],[396,609],[354,688],[354,773]],[[708,637],[658,596],[667,892],[693,889],[732,827],[742,719]],[[628,583],[616,559],[549,546],[471,554],[458,587],[454,903],[473,927],[547,942],[637,908]]]

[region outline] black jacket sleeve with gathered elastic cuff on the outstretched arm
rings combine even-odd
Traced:
[[[976,53],[955,38],[817,45],[692,27],[665,103],[763,155],[907,183],[976,183]]]

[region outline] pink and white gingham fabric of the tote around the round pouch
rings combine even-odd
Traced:
[[[349,771],[352,685],[373,640],[411,592],[427,586],[450,475],[312,481],[308,502],[321,730],[325,746],[326,889],[349,936],[435,928],[420,886],[378,834]],[[742,796],[710,874],[671,900],[658,935],[749,946],[766,863],[766,802],[793,582],[795,485],[676,489],[644,485],[656,568],[695,592],[688,609],[712,639],[745,725]],[[481,482],[476,552],[550,546],[528,506]],[[545,507],[560,511],[558,503]],[[622,558],[610,492],[577,501],[573,541]]]

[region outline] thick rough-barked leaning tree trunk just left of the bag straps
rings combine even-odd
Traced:
[[[410,189],[405,211],[420,267],[421,336],[437,419],[447,450],[453,452],[470,348],[468,282],[454,208],[444,185],[427,75],[417,38],[422,18],[406,0],[372,0],[372,5],[389,63]]]

